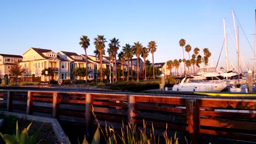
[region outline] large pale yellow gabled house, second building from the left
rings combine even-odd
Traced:
[[[23,61],[20,64],[25,69],[25,75],[40,76],[42,81],[70,79],[70,62],[52,50],[31,47],[22,56]],[[48,76],[41,75],[41,71],[48,68],[54,70],[54,75],[49,79]]]

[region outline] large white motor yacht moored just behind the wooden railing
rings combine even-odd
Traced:
[[[184,77],[180,83],[172,87],[172,91],[220,92],[225,87],[225,83],[211,82],[199,77]]]

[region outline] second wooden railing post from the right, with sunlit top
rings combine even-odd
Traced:
[[[132,125],[135,124],[135,97],[131,95],[127,95],[127,101],[128,101],[128,113],[127,113],[127,120]]]

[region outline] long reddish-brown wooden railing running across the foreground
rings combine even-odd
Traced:
[[[0,91],[2,110],[82,122],[86,131],[101,123],[120,128],[143,120],[155,129],[179,131],[199,143],[208,135],[256,142],[256,98],[191,97],[135,93]]]

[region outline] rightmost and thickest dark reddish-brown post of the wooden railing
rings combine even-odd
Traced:
[[[199,105],[196,99],[186,99],[186,119],[192,143],[200,139]]]

